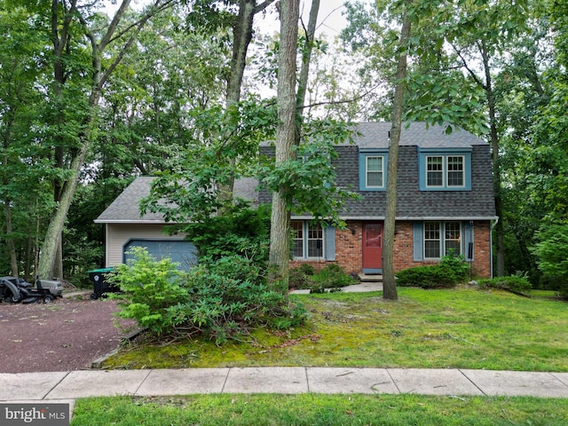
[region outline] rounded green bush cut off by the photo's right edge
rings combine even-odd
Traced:
[[[568,297],[568,225],[543,225],[536,245],[539,268],[544,278]]]

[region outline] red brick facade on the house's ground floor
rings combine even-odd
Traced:
[[[474,261],[473,274],[476,277],[491,277],[491,226],[489,221],[474,222]],[[413,222],[398,222],[395,230],[395,271],[436,264],[432,261],[414,261],[414,231]],[[363,266],[363,222],[348,221],[347,228],[335,231],[335,261],[311,260],[292,261],[290,267],[309,262],[319,270],[327,264],[339,264],[345,272],[359,273]]]

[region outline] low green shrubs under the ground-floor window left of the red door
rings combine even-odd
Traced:
[[[357,282],[338,264],[328,264],[319,272],[311,264],[301,264],[290,270],[288,287],[309,288],[311,293],[323,293],[326,290],[337,291]]]

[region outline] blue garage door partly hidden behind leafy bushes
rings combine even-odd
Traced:
[[[130,240],[123,250],[124,263],[132,258],[128,254],[130,248],[145,247],[154,259],[170,258],[172,262],[180,264],[184,271],[197,264],[197,248],[189,241],[171,240]]]

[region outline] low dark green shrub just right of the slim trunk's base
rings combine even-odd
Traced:
[[[454,270],[445,264],[417,266],[397,272],[400,287],[453,288],[459,282]]]

